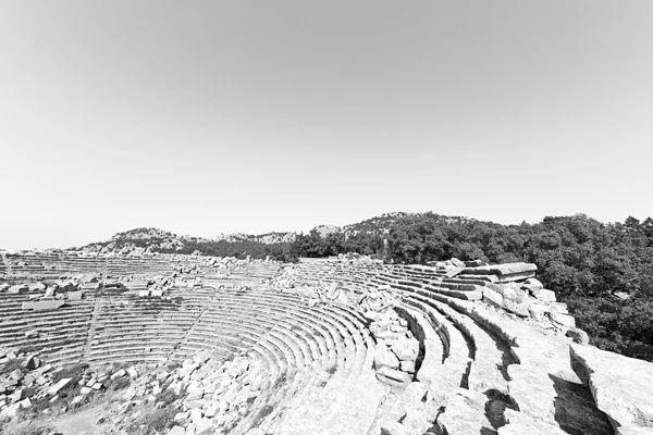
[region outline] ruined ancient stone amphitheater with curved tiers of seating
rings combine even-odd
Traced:
[[[165,434],[653,434],[653,364],[589,346],[535,273],[3,254],[0,369],[36,375],[0,377],[0,415],[35,380],[56,406],[46,372],[85,362],[130,373],[121,412],[174,389]]]

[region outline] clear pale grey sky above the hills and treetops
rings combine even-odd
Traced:
[[[0,0],[0,248],[653,216],[650,0]]]

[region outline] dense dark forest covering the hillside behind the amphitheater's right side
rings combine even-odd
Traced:
[[[384,243],[386,240],[386,243]],[[434,213],[404,214],[389,227],[299,235],[286,252],[377,254],[389,261],[527,261],[566,302],[592,344],[653,361],[653,220],[604,224],[583,214],[501,225]]]

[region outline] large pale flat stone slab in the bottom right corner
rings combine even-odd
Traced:
[[[570,345],[569,355],[617,434],[653,434],[653,363],[593,346]]]

